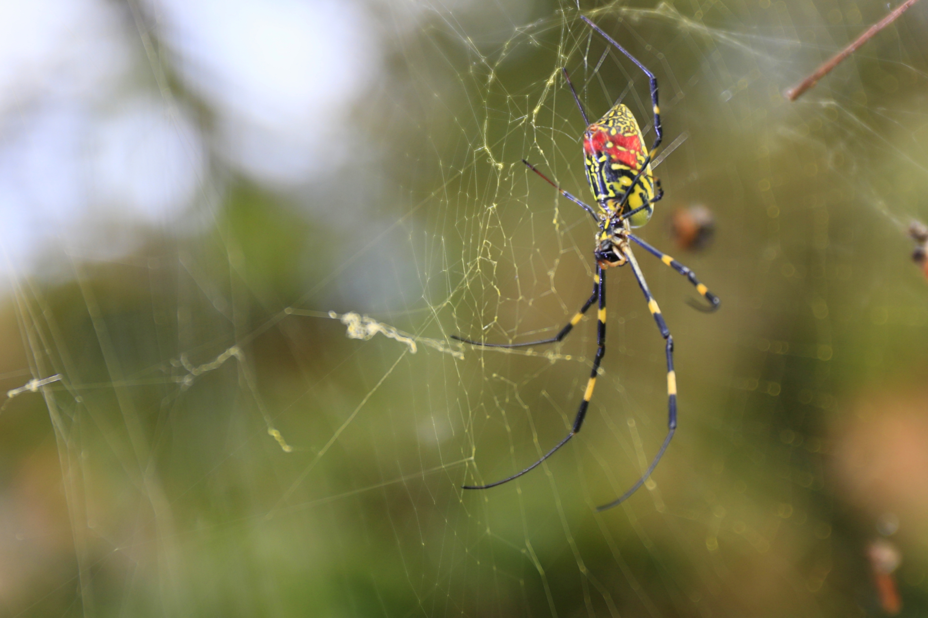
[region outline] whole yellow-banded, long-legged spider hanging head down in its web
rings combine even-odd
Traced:
[[[590,371],[589,380],[586,382],[586,392],[583,395],[583,399],[580,401],[580,407],[577,410],[576,417],[574,417],[574,427],[561,442],[556,444],[554,448],[549,450],[548,453],[525,470],[517,472],[502,481],[496,481],[496,483],[464,485],[463,488],[489,489],[490,487],[496,487],[496,485],[509,483],[509,481],[518,479],[522,474],[534,470],[541,462],[554,455],[554,453],[557,452],[561,446],[567,444],[583,426],[583,421],[586,417],[586,407],[589,406],[589,401],[593,397],[593,388],[596,386],[599,363],[602,361],[603,355],[606,354],[606,278],[603,277],[603,271],[612,266],[631,265],[632,272],[635,274],[635,278],[638,279],[638,286],[641,288],[645,300],[648,302],[648,309],[651,311],[651,315],[653,315],[657,328],[664,337],[664,341],[666,341],[667,435],[664,438],[664,444],[661,444],[661,448],[651,461],[651,466],[648,467],[648,470],[645,470],[638,479],[638,482],[632,485],[625,494],[619,496],[609,504],[602,505],[598,508],[598,510],[605,510],[612,509],[612,507],[624,502],[625,499],[634,494],[638,490],[638,487],[651,476],[651,472],[657,467],[661,457],[664,457],[664,451],[667,450],[670,440],[674,437],[674,432],[677,431],[677,374],[674,372],[674,338],[670,336],[670,330],[667,329],[664,316],[661,315],[660,308],[658,308],[653,296],[651,296],[651,290],[648,290],[648,283],[645,281],[644,275],[638,267],[638,262],[635,259],[635,254],[632,252],[629,240],[634,241],[642,249],[657,257],[661,262],[676,270],[680,275],[687,277],[690,283],[696,286],[696,290],[709,304],[706,306],[695,303],[692,299],[689,299],[693,307],[704,312],[713,312],[718,309],[719,300],[699,282],[689,268],[680,264],[669,255],[651,247],[647,242],[631,233],[632,227],[640,227],[648,223],[651,219],[651,214],[654,212],[654,203],[664,197],[661,183],[654,177],[651,171],[651,156],[655,148],[661,145],[661,138],[663,136],[660,109],[657,105],[657,79],[655,79],[651,71],[648,71],[644,65],[638,62],[637,58],[629,54],[622,45],[616,43],[606,32],[602,32],[599,26],[589,19],[586,19],[586,17],[581,16],[581,19],[586,21],[586,24],[589,25],[590,28],[599,32],[609,44],[625,54],[625,57],[634,62],[638,66],[638,69],[644,71],[645,74],[648,75],[648,79],[651,81],[651,103],[654,108],[655,137],[654,143],[651,146],[651,153],[649,154],[642,142],[641,129],[638,127],[638,121],[635,120],[634,114],[622,103],[616,103],[612,109],[607,111],[606,114],[599,119],[599,121],[590,123],[589,119],[586,117],[586,110],[580,102],[580,97],[577,97],[576,90],[574,90],[574,84],[571,83],[570,76],[567,74],[567,69],[563,69],[564,79],[567,85],[570,86],[577,107],[580,109],[584,122],[586,122],[586,131],[584,132],[583,140],[586,161],[586,179],[589,181],[589,187],[593,191],[593,198],[599,205],[599,210],[594,210],[583,201],[574,198],[573,195],[563,190],[561,187],[558,187],[557,184],[549,180],[545,174],[536,170],[535,166],[528,161],[523,159],[522,162],[535,172],[535,174],[544,178],[548,184],[560,191],[562,196],[573,201],[586,212],[589,212],[590,216],[596,221],[599,232],[597,232],[596,235],[596,249],[593,251],[593,255],[596,258],[596,276],[593,277],[593,294],[586,299],[586,303],[584,303],[580,311],[571,318],[571,321],[564,326],[564,328],[561,328],[561,331],[558,332],[557,335],[550,339],[528,341],[525,343],[484,343],[482,341],[471,341],[458,336],[452,337],[458,341],[470,343],[471,345],[488,348],[523,348],[530,345],[555,343],[567,337],[568,333],[580,323],[583,315],[586,314],[586,310],[593,306],[593,303],[599,302],[599,314],[597,315],[598,349],[596,357],[593,360],[593,370]]]

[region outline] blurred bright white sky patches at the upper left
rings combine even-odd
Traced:
[[[0,240],[17,271],[49,242],[116,255],[132,235],[112,230],[170,227],[208,208],[220,189],[213,158],[270,187],[331,174],[347,156],[337,138],[347,114],[384,56],[352,0],[4,4]],[[147,55],[136,17],[157,24],[167,53]],[[165,73],[209,106],[210,135],[161,90]]]

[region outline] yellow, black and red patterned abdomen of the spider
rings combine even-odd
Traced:
[[[616,214],[622,197],[631,187],[635,176],[647,160],[648,149],[641,138],[641,129],[631,109],[619,103],[606,115],[586,127],[584,132],[584,154],[586,179],[600,208],[610,216]],[[629,212],[647,204],[633,214],[628,222],[632,227],[645,225],[651,219],[654,207],[654,175],[651,164],[638,178],[625,203],[623,212]]]

